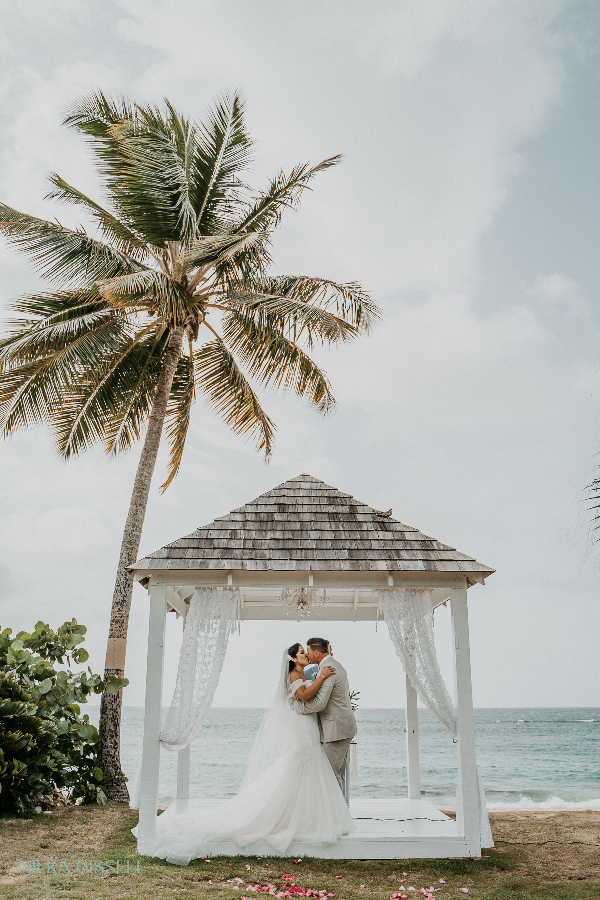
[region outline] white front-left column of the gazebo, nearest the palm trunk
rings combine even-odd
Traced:
[[[165,663],[166,587],[154,579],[150,588],[146,707],[139,791],[138,852],[144,853],[157,830],[158,776],[160,774],[160,716],[163,707]]]

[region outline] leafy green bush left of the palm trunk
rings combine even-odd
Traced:
[[[38,622],[31,635],[0,633],[0,815],[31,813],[57,790],[79,802],[106,803],[98,732],[81,715],[87,698],[102,694],[103,679],[89,667],[77,674],[68,668],[89,658],[80,646],[86,630],[73,619],[56,632]],[[67,671],[59,668],[65,661]]]

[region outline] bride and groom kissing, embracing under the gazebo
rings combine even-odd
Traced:
[[[307,675],[313,668],[314,680]],[[345,767],[356,734],[348,676],[331,645],[311,638],[282,657],[273,703],[264,714],[239,793],[206,813],[158,816],[148,855],[186,866],[219,843],[247,852],[266,843],[322,847],[354,832],[345,802]],[[269,848],[255,848],[267,853]],[[230,853],[229,847],[222,852]]]

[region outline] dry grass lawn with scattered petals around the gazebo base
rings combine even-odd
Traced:
[[[233,857],[194,861],[178,868],[138,857],[130,828],[137,814],[127,806],[67,807],[34,819],[0,820],[0,896],[11,900],[46,898],[161,898],[187,892],[198,900],[252,900],[248,886],[272,884],[282,889],[282,876],[296,878],[299,887],[327,890],[336,900],[390,900],[394,894],[423,897],[421,888],[438,888],[435,897],[598,898],[600,900],[600,844],[598,813],[497,813],[490,815],[497,848],[480,860],[293,860],[272,857]],[[556,841],[546,846],[503,842]],[[27,874],[40,860],[40,874]],[[49,868],[49,862],[56,869]],[[64,863],[63,863],[64,860]],[[93,875],[89,861],[97,860]],[[107,872],[105,860],[116,860],[120,873]],[[130,874],[127,874],[127,862]],[[77,873],[79,862],[80,873]],[[228,866],[231,863],[231,866]],[[65,865],[66,864],[66,865]],[[104,866],[104,872],[100,869]],[[68,867],[68,871],[67,868]],[[138,874],[139,866],[139,874]],[[248,869],[249,867],[249,869]],[[36,867],[37,868],[37,867]],[[404,873],[407,873],[405,876]],[[19,874],[21,873],[21,874]],[[341,878],[340,878],[341,877]],[[238,890],[228,879],[240,878]],[[404,879],[400,885],[400,879]],[[441,883],[441,880],[445,884]],[[408,887],[416,888],[408,891]]]

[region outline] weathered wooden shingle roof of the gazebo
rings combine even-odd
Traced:
[[[131,568],[494,572],[308,474],[280,484]]]

